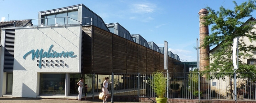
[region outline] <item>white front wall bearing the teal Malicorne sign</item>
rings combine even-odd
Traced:
[[[81,72],[80,41],[80,25],[15,29],[12,96],[36,98],[39,92],[38,80],[40,76],[38,75],[41,72]],[[48,51],[51,45],[53,47],[51,51]],[[32,55],[34,52],[27,54],[31,50],[35,50],[35,52],[36,50],[39,52],[43,50],[43,52],[42,55],[39,52],[38,55],[35,53],[36,55],[33,59]],[[59,57],[54,53],[62,53],[63,51],[71,53],[71,55],[69,57]],[[72,52],[74,52],[73,55]],[[51,53],[53,55],[46,55]],[[43,58],[43,55],[46,57]],[[53,57],[54,55],[57,57]],[[37,66],[37,64],[40,64],[40,61],[37,60],[40,60],[41,57],[43,66],[40,68],[40,66]],[[46,60],[48,61],[46,62]],[[65,66],[64,64],[67,65]]]

